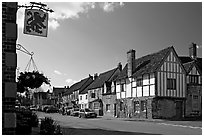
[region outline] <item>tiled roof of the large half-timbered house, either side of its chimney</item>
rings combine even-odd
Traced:
[[[145,73],[155,72],[157,68],[160,66],[160,64],[162,63],[163,59],[172,49],[174,50],[173,46],[160,50],[156,53],[152,53],[152,54],[140,57],[138,59],[135,59],[136,67],[133,70],[133,77],[137,77]],[[128,69],[128,66],[126,64],[122,72],[120,73],[120,75],[117,77],[117,79],[127,78],[127,69]]]

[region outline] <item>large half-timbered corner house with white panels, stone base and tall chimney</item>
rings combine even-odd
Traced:
[[[184,116],[186,71],[173,46],[137,59],[128,51],[116,84],[117,117]]]

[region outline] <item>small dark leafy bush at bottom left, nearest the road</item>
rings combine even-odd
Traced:
[[[40,125],[40,134],[42,135],[62,135],[60,125],[57,125],[50,117],[42,119]]]

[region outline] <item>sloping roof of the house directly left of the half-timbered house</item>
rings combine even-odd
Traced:
[[[94,88],[99,88],[99,87],[102,87],[103,84],[107,81],[111,81],[113,78],[113,74],[116,72],[116,70],[119,69],[118,67],[117,68],[114,68],[112,70],[109,70],[109,71],[106,71],[104,73],[101,73],[96,80],[94,80],[93,83],[91,83],[91,85],[88,87],[88,90],[89,89],[94,89]]]

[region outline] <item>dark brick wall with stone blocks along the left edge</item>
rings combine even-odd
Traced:
[[[2,134],[16,128],[17,2],[2,2]]]

